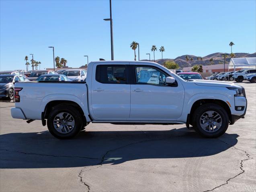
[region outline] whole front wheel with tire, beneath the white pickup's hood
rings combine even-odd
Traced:
[[[207,138],[216,138],[225,133],[229,117],[225,109],[214,103],[203,104],[194,113],[195,130]]]

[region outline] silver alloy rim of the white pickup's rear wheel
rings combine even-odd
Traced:
[[[69,133],[75,127],[75,119],[70,113],[62,112],[55,116],[53,126],[59,133]]]

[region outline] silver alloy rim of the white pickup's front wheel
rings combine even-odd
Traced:
[[[220,129],[222,118],[216,111],[206,111],[200,117],[200,125],[203,130],[213,133]]]

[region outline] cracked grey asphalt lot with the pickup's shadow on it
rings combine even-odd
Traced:
[[[0,101],[0,191],[256,191],[256,84],[217,139],[185,125],[92,124],[75,139],[12,119]]]

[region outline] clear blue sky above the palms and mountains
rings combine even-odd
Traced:
[[[153,44],[165,47],[164,58],[206,56],[215,52],[256,52],[256,1],[113,0],[114,59],[133,60],[129,44],[140,44],[148,59]],[[41,69],[64,57],[69,67],[99,58],[111,59],[109,1],[0,0],[0,70],[26,69],[34,54]],[[151,54],[151,59],[153,54]],[[156,52],[156,59],[160,59]]]

